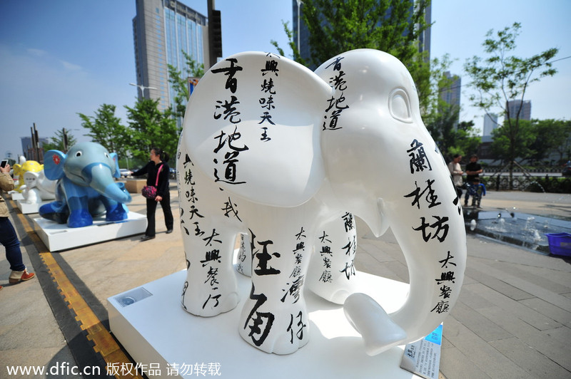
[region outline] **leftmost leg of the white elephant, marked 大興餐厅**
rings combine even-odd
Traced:
[[[184,222],[193,224],[192,219]],[[232,261],[235,242],[234,230],[203,219],[193,235],[183,235],[187,274],[181,301],[186,311],[208,317],[236,308],[240,296]]]

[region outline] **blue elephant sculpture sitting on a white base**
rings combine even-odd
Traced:
[[[117,154],[95,142],[81,142],[64,154],[49,150],[44,154],[44,173],[57,180],[56,201],[44,204],[39,214],[59,224],[78,228],[93,224],[93,217],[106,212],[106,221],[127,219],[126,203],[131,194],[121,177]]]

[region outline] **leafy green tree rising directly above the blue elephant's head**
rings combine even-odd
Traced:
[[[78,113],[81,118],[81,126],[89,130],[87,135],[91,140],[105,147],[108,152],[116,152],[119,158],[127,155],[131,134],[125,125],[121,124],[121,118],[115,115],[116,107],[111,104],[103,104],[95,111],[94,116]]]

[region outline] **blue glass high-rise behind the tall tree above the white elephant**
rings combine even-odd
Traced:
[[[409,1],[411,9],[413,8],[413,0],[402,1]],[[308,27],[301,18],[301,14],[303,14],[303,0],[292,0],[292,12],[293,38],[298,45],[300,56],[307,62],[310,57],[310,43]],[[428,4],[426,7],[424,18],[426,24],[430,25],[432,22],[432,4]],[[425,31],[418,36],[418,50],[420,52],[428,51],[428,56],[430,57],[430,27],[426,28]],[[317,67],[310,66],[310,68],[315,70]]]

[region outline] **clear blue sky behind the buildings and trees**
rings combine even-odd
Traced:
[[[183,0],[206,15],[207,0]],[[216,0],[222,14],[223,54],[272,51],[276,40],[290,53],[282,20],[291,25],[291,0]],[[0,156],[21,153],[20,137],[36,123],[40,137],[71,130],[79,141],[86,130],[77,113],[94,115],[103,103],[132,106],[137,88],[131,22],[134,0],[0,1]],[[514,21],[522,24],[515,55],[529,57],[556,47],[571,56],[569,0],[433,0],[432,58],[455,59],[451,71],[463,76],[466,58],[482,54],[485,33]],[[559,73],[533,83],[532,118],[571,119],[571,58],[554,63]],[[469,81],[463,77],[463,86]],[[482,125],[482,112],[463,91],[461,120]]]

